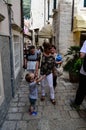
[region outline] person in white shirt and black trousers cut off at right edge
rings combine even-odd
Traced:
[[[80,58],[84,58],[85,56],[86,56],[86,40],[84,41],[80,49]],[[79,75],[79,87],[76,92],[75,100],[74,102],[71,103],[71,106],[79,110],[80,105],[82,104],[85,96],[86,96],[86,72],[84,71],[82,64]]]

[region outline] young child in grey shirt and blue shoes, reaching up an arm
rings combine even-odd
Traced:
[[[37,77],[35,77],[34,73],[32,72],[26,74],[25,76],[26,81],[29,83],[29,101],[30,101],[29,112],[31,115],[37,114],[37,112],[35,111],[35,105],[38,98],[37,83],[40,82],[44,78],[45,78],[45,75],[37,79]]]

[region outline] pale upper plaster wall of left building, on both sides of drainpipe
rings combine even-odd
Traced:
[[[20,26],[21,24],[20,0],[12,0],[11,8],[14,22]],[[0,13],[5,16],[5,19],[2,22],[0,22],[0,34],[9,35],[8,9],[7,4],[5,4],[3,0],[0,0]]]

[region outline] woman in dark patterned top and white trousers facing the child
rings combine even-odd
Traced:
[[[55,66],[55,58],[50,53],[51,45],[49,43],[44,42],[43,47],[44,52],[41,60],[40,74],[46,75],[46,78],[41,81],[41,91],[42,91],[41,101],[45,100],[45,84],[47,81],[50,89],[50,101],[52,102],[53,105],[55,105],[56,101],[53,88],[53,74],[52,74],[53,68]]]

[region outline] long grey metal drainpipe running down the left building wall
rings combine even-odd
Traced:
[[[11,87],[12,97],[14,97],[14,69],[13,69],[13,47],[12,47],[12,22],[11,22],[11,5],[7,4],[9,17],[9,46],[10,46],[10,68],[11,68]]]

